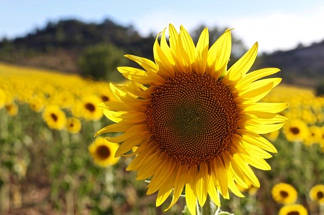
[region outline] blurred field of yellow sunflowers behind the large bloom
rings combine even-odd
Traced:
[[[97,104],[111,99],[108,82],[0,64],[0,214],[162,213],[168,203],[155,208],[147,184],[125,171],[130,160],[113,157],[117,145],[94,137],[109,124]],[[278,150],[268,154],[272,170],[256,170],[261,187],[222,199],[222,209],[324,214],[324,98],[278,86],[264,101],[290,102],[280,113],[289,121],[265,135]]]

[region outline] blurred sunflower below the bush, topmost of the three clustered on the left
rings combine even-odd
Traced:
[[[101,99],[95,95],[90,95],[82,100],[82,116],[86,120],[98,121],[101,119],[103,113],[98,104],[101,103]]]

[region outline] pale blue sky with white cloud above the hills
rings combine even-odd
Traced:
[[[324,1],[9,1],[1,0],[0,38],[24,35],[48,21],[77,18],[101,22],[104,18],[132,24],[142,35],[156,34],[169,23],[189,31],[199,24],[235,28],[246,46],[259,42],[260,51],[287,50],[299,42],[324,39]]]

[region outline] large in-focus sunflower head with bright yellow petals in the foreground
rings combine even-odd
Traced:
[[[288,103],[258,102],[281,81],[258,80],[278,72],[276,68],[247,73],[258,43],[227,70],[229,29],[210,48],[207,28],[196,46],[183,26],[178,33],[170,24],[170,45],[165,30],[160,34],[153,45],[155,62],[126,55],[144,70],[117,68],[133,82],[110,84],[118,101],[100,106],[116,124],[96,135],[125,132],[109,139],[121,143],[115,156],[136,155],[127,170],[137,171],[138,180],[152,177],[147,194],[158,192],[156,206],[173,191],[169,209],[185,188],[187,206],[195,214],[196,200],[204,205],[207,195],[217,205],[217,192],[229,198],[228,188],[243,196],[235,182],[242,187],[248,187],[247,181],[260,186],[249,165],[270,170],[264,158],[271,155],[265,150],[276,149],[259,134],[284,125],[287,119],[276,113]],[[139,147],[128,153],[133,146]]]

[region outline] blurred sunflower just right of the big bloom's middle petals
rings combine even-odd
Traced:
[[[288,141],[304,141],[309,135],[307,124],[299,119],[289,120],[282,129]]]

